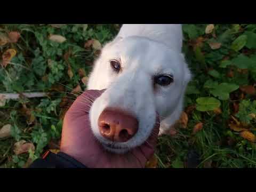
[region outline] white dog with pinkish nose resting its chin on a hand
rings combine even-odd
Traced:
[[[90,110],[93,134],[106,149],[125,153],[141,145],[157,114],[161,133],[179,119],[191,78],[182,37],[180,24],[129,24],[103,47],[87,89],[107,89]]]

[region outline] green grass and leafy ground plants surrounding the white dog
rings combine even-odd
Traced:
[[[228,126],[232,115],[246,124],[245,129],[256,133],[255,118],[250,116],[256,114],[255,93],[246,94],[239,89],[256,85],[256,25],[215,24],[210,34],[205,34],[206,26],[183,25],[183,51],[194,75],[188,86],[185,110],[192,105],[196,109],[188,114],[186,129],[178,129],[174,137],[159,138],[155,154],[158,167],[183,167],[191,149],[200,156],[198,167],[256,167],[255,142],[244,139]],[[61,105],[67,95],[63,92],[70,92],[67,87],[74,89],[77,85],[85,89],[78,69],[89,75],[99,55],[93,47],[85,49],[84,43],[97,39],[103,45],[118,33],[119,27],[116,24],[61,28],[46,24],[0,25],[0,38],[10,31],[21,34],[18,42],[0,46],[1,58],[7,49],[17,51],[6,68],[0,66],[0,93],[51,93],[43,99],[7,100],[0,107],[0,128],[12,125],[11,137],[0,139],[0,167],[23,167],[28,157],[35,159],[44,149],[52,148],[49,143],[57,143],[61,115],[66,109]],[[61,35],[66,41],[52,42],[50,34]],[[211,43],[221,43],[221,47],[214,50]],[[66,53],[68,60],[64,57]],[[68,76],[69,65],[72,78]],[[239,111],[234,110],[234,103],[239,105]],[[220,108],[221,114],[214,113],[215,108]],[[192,134],[199,122],[203,123],[203,129]],[[20,140],[33,143],[35,151],[15,155],[14,143]]]

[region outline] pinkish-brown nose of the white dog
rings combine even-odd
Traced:
[[[125,111],[106,108],[98,119],[98,125],[104,138],[113,142],[126,142],[137,133],[139,122]]]

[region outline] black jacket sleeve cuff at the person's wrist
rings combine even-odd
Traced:
[[[43,158],[36,159],[29,168],[87,168],[65,153],[46,151]]]

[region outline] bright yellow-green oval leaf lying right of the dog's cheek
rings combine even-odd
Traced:
[[[215,98],[202,97],[196,100],[196,110],[198,111],[211,111],[220,107],[220,101]]]

